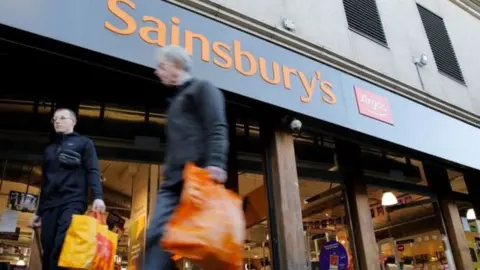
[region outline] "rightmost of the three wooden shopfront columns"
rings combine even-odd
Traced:
[[[433,162],[423,162],[423,170],[428,186],[438,196],[440,212],[445,222],[451,251],[457,269],[473,270],[472,257],[463,231],[460,213],[453,198],[447,169]]]

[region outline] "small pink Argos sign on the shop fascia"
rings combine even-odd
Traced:
[[[358,111],[368,117],[393,125],[392,111],[388,99],[362,88],[353,87]]]

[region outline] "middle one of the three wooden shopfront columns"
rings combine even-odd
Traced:
[[[373,231],[373,223],[368,203],[367,185],[362,171],[362,156],[358,145],[343,141],[335,141],[337,165],[343,174],[347,209],[353,228],[354,254],[359,269],[379,270],[378,245]]]

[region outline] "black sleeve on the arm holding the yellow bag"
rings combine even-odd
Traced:
[[[103,188],[100,181],[100,168],[98,165],[97,150],[95,149],[93,141],[90,139],[87,139],[85,144],[83,164],[86,169],[88,184],[92,189],[93,199],[103,200]]]

